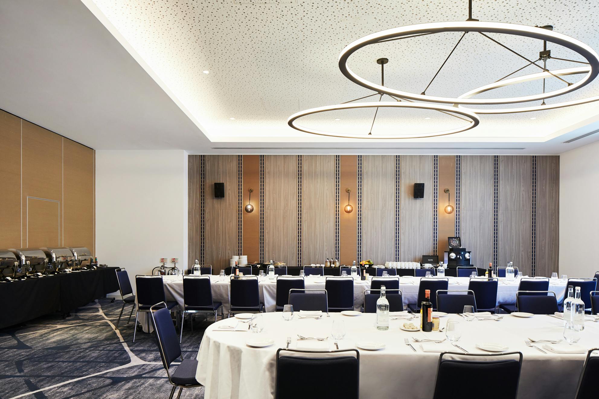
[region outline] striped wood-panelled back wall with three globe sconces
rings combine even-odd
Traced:
[[[224,199],[214,199],[214,182],[225,183]],[[425,184],[424,198],[413,197],[414,183]],[[249,185],[255,215],[246,227]],[[456,208],[447,218],[444,188]],[[250,261],[290,266],[339,256],[419,261],[442,258],[459,232],[476,266],[513,261],[547,275],[558,268],[558,193],[556,156],[190,156],[189,258],[219,270],[241,247]]]

